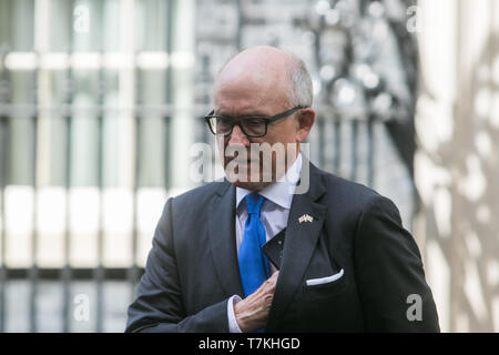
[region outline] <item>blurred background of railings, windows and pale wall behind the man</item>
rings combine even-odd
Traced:
[[[499,1],[0,0],[0,332],[124,331],[257,44],[307,63],[309,158],[394,200],[441,329],[499,331]]]

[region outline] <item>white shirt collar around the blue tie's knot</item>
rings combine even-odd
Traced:
[[[302,153],[298,154],[295,162],[287,170],[286,174],[283,178],[281,178],[272,185],[268,185],[264,190],[259,191],[258,194],[279,205],[281,207],[289,210],[293,201],[293,194],[299,180],[301,171]],[[241,201],[243,201],[244,197],[246,197],[246,195],[249,193],[252,193],[249,190],[236,187],[236,210],[240,207]]]

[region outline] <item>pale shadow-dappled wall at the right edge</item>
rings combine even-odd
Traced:
[[[416,237],[446,332],[499,332],[499,1],[420,1]]]

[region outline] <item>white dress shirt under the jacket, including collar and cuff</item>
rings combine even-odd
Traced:
[[[266,240],[271,240],[287,225],[287,217],[293,201],[293,194],[296,184],[299,180],[299,172],[302,170],[302,153],[298,154],[293,165],[287,170],[286,174],[276,183],[259,191],[258,194],[265,197],[262,204],[262,212],[259,220],[265,227]],[[244,225],[247,219],[246,203],[244,197],[252,193],[249,190],[236,187],[236,246],[237,255],[240,253],[241,242],[244,235]],[[274,273],[276,268],[271,264],[271,272]],[[228,331],[231,333],[241,333],[237,321],[234,314],[234,304],[240,302],[241,297],[232,296],[227,303],[228,315]]]

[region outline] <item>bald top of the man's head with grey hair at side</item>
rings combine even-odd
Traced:
[[[304,62],[273,47],[254,47],[233,57],[221,70],[215,84],[215,101],[221,90],[247,89],[283,109],[312,105],[312,80]]]

